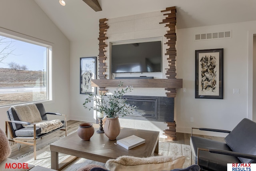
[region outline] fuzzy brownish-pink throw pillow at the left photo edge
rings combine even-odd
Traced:
[[[10,154],[11,148],[9,146],[8,139],[4,131],[0,128],[0,163],[8,158]]]

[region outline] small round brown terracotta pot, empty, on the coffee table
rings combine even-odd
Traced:
[[[80,123],[77,129],[77,135],[83,140],[88,141],[94,134],[92,123]]]

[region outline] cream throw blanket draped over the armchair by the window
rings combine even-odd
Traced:
[[[60,121],[60,119],[42,121],[40,112],[36,105],[33,103],[16,105],[12,107],[15,109],[20,121],[36,123],[36,127],[41,128],[41,133],[48,133],[63,126],[63,123]],[[34,125],[23,125],[23,127],[34,127]]]

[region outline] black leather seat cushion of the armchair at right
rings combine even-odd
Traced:
[[[228,145],[224,142],[214,141],[212,139],[206,139],[202,137],[192,136],[190,138],[192,159],[194,163],[197,163],[197,149],[222,149],[231,151]],[[200,151],[199,153],[199,165],[201,167],[209,168],[213,171],[224,171],[227,170],[227,163],[241,163],[237,157],[220,155],[210,153],[209,151]]]

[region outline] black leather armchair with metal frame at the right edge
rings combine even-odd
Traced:
[[[232,131],[192,128],[202,131],[228,133],[226,142],[192,135],[190,146],[192,161],[202,170],[226,171],[227,163],[256,163],[256,123],[244,118]]]

